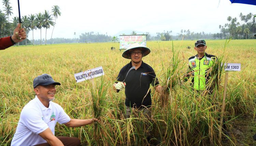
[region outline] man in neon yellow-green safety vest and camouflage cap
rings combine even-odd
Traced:
[[[197,51],[197,54],[188,59],[189,72],[185,76],[185,81],[187,81],[188,77],[192,77],[191,86],[194,90],[200,92],[205,90],[205,85],[211,76],[209,69],[217,58],[205,52],[207,49],[205,40],[197,40],[194,49]]]

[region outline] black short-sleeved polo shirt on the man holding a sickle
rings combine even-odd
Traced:
[[[117,80],[123,81],[131,67],[131,62],[125,65],[120,70]],[[141,66],[137,70],[133,69],[128,73],[125,83],[126,106],[140,108],[141,105],[152,105],[150,84],[152,86],[156,86],[159,84],[159,82],[151,66],[142,61]]]

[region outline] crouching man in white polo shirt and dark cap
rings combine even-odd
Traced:
[[[71,119],[61,106],[52,102],[55,98],[56,85],[48,74],[37,76],[33,80],[35,98],[24,106],[12,146],[80,146],[78,138],[54,136],[56,123],[68,127],[81,127],[98,121],[96,118],[87,120]]]

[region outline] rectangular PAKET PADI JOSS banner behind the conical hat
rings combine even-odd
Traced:
[[[120,35],[120,50],[127,49],[131,44],[138,42],[146,47],[147,35]]]

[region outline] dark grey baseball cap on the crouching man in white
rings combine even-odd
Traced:
[[[34,88],[39,86],[39,85],[47,86],[47,85],[50,85],[50,84],[60,85],[60,83],[54,81],[53,78],[48,74],[42,74],[40,76],[37,76],[33,80],[33,87]]]

